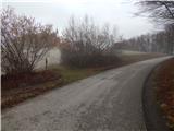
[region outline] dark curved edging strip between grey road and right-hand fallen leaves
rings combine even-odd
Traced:
[[[171,58],[166,60],[170,59]],[[166,126],[166,119],[164,118],[162,110],[157,103],[154,88],[152,88],[154,72],[166,60],[157,63],[150,70],[150,73],[144,82],[142,111],[147,131],[170,131],[169,127]]]

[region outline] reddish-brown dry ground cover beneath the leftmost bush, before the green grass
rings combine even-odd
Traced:
[[[1,108],[14,106],[63,83],[60,73],[41,71],[1,76]]]

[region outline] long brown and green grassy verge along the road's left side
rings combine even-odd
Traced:
[[[50,66],[48,71],[36,72],[35,75],[2,79],[1,108],[5,109],[28,98],[44,94],[52,88],[61,87],[80,79],[100,73],[108,69],[119,68],[141,60],[161,57],[158,53],[123,55],[117,64],[98,68],[75,69],[63,66]],[[23,79],[25,78],[25,79]],[[15,84],[14,84],[15,83]]]

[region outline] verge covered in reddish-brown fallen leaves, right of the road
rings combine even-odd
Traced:
[[[165,61],[156,74],[157,98],[174,131],[174,59]]]

